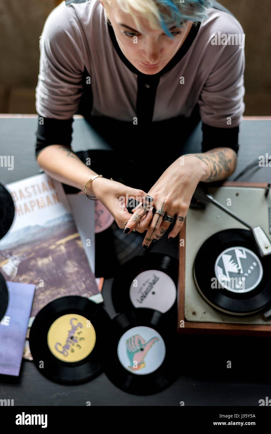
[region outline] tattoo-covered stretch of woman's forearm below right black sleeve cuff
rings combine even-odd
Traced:
[[[204,180],[220,181],[228,178],[235,171],[237,163],[236,152],[228,148],[217,148],[215,151],[207,151],[202,154],[185,154],[184,156],[195,157],[202,160],[210,169],[210,175]]]

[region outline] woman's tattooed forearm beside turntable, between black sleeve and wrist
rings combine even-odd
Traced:
[[[189,164],[195,164],[198,171],[198,163],[202,168],[200,181],[222,181],[228,178],[236,169],[237,155],[231,148],[213,148],[201,154],[185,154],[182,156]]]

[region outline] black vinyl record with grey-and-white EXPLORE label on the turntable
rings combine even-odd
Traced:
[[[199,293],[215,309],[245,316],[271,305],[271,257],[261,258],[251,233],[226,229],[208,238],[194,262]]]

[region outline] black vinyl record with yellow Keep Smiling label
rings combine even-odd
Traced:
[[[96,377],[107,354],[109,325],[106,311],[87,298],[67,296],[50,302],[30,329],[30,352],[37,368],[50,380],[67,385]]]

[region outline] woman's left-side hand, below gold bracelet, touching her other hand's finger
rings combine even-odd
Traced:
[[[134,215],[130,214],[126,208],[131,198],[133,202],[139,201],[141,205],[142,222],[139,219],[133,221],[132,229],[135,228],[138,232],[144,232],[152,220],[152,208],[146,203],[145,197],[147,194],[142,190],[128,187],[120,182],[112,181],[107,178],[96,178],[92,181],[92,194],[109,210],[109,213],[114,217],[116,224],[122,230],[129,228],[128,223],[124,227],[123,224]],[[131,220],[132,221],[132,220]],[[131,230],[132,230],[131,229]]]

